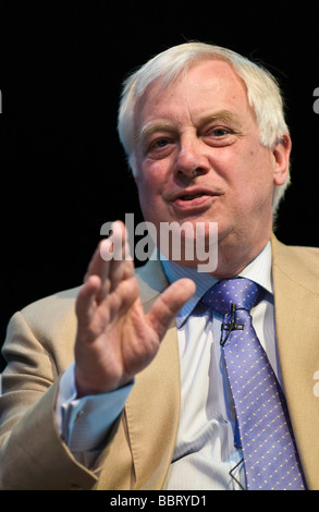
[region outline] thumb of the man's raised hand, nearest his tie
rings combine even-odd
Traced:
[[[196,290],[191,279],[180,279],[172,283],[156,301],[147,314],[147,319],[157,331],[160,339],[181,307],[194,295]]]

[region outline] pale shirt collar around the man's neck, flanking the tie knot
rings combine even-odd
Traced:
[[[170,283],[181,278],[189,278],[196,284],[196,292],[176,315],[176,325],[177,327],[181,327],[186,321],[198,301],[213,284],[218,282],[218,279],[209,276],[208,273],[198,272],[194,268],[184,267],[175,261],[171,261],[162,254],[159,256]],[[260,287],[263,287],[267,292],[272,294],[270,242],[267,243],[261,253],[259,253],[259,255],[256,256],[256,258],[253,259],[253,261],[250,261],[238,276],[255,281]]]

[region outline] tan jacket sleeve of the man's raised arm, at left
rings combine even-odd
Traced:
[[[56,336],[48,333],[50,312],[54,316],[48,301],[28,307],[8,327],[0,397],[1,489],[90,489],[98,480],[99,472],[76,462],[57,428],[59,380],[73,358],[75,338],[70,314],[62,310],[56,313],[59,322],[50,322]],[[58,333],[56,346],[51,340]]]

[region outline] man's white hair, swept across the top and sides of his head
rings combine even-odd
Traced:
[[[137,172],[134,155],[134,114],[137,102],[155,81],[162,87],[168,87],[179,76],[186,74],[194,62],[209,59],[228,62],[244,81],[248,103],[255,112],[260,143],[263,146],[272,147],[289,134],[280,87],[268,70],[235,51],[219,46],[205,42],[177,45],[150,59],[123,83],[118,130],[134,175]],[[290,175],[283,185],[275,187],[274,211],[289,183]]]

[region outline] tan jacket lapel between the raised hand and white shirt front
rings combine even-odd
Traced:
[[[168,282],[159,261],[150,260],[138,276],[140,296],[147,312]],[[180,357],[173,324],[152,363],[136,376],[125,405],[135,488],[162,487],[173,458],[180,400]]]

